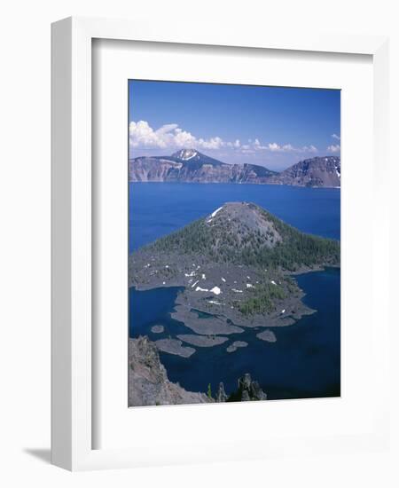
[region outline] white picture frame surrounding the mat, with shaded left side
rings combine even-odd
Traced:
[[[385,171],[388,167],[388,42],[385,37],[351,35],[308,35],[229,32],[228,28],[209,28],[206,33],[192,24],[171,33],[161,20],[151,25],[135,20],[70,18],[52,25],[52,311],[51,311],[51,460],[71,470],[125,468],[179,462],[233,460],[241,454],[232,442],[223,445],[195,445],[183,453],[172,439],[160,439],[161,453],[143,449],[93,448],[97,436],[93,422],[92,366],[97,344],[93,340],[92,305],[92,41],[113,39],[150,43],[200,44],[256,50],[316,51],[319,53],[363,54],[372,57],[373,71],[373,186],[379,213],[387,210]],[[377,227],[379,225],[377,232]],[[384,226],[385,225],[385,226]],[[372,279],[388,281],[387,222],[374,223],[373,253],[380,256]],[[377,297],[376,297],[377,299]],[[378,296],[379,329],[373,329],[379,373],[387,377],[388,310],[387,296]],[[373,305],[375,307],[375,303]],[[375,351],[373,350],[373,352]],[[355,450],[359,446],[386,445],[387,381],[381,382],[380,401],[375,407],[372,431],[343,437],[290,439],[290,449],[302,453],[315,450]],[[220,405],[217,405],[220,408]],[[177,407],[179,408],[179,407]],[[190,407],[189,407],[190,408]],[[194,407],[191,407],[194,408]],[[260,411],[253,412],[259,415]],[[138,446],[139,447],[139,446]],[[206,449],[204,449],[206,447]],[[258,446],[259,447],[259,446]],[[247,457],[285,455],[284,438],[264,443],[262,449],[247,450]]]

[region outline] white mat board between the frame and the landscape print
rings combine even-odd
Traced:
[[[372,158],[372,59],[368,56],[337,54],[304,55],[292,51],[231,52],[214,47],[182,48],[176,45],[164,46],[160,50],[156,44],[126,41],[96,42],[93,52],[96,59],[93,62],[94,77],[101,80],[95,84],[96,96],[93,98],[93,106],[96,107],[93,136],[97,141],[93,148],[93,176],[98,188],[93,203],[93,209],[97,212],[93,242],[101,242],[93,263],[96,273],[93,304],[98,304],[96,330],[99,344],[96,365],[93,367],[98,390],[93,400],[95,412],[98,413],[95,448],[138,446],[136,458],[146,449],[151,449],[152,460],[156,463],[160,459],[165,460],[166,456],[160,439],[165,443],[173,439],[174,449],[171,451],[175,450],[183,462],[184,454],[187,459],[198,459],[204,454],[198,445],[207,445],[210,432],[217,432],[213,447],[223,444],[222,450],[226,452],[226,445],[233,445],[233,453],[236,456],[240,453],[241,458],[248,452],[245,445],[251,445],[254,451],[260,453],[263,446],[274,445],[276,448],[280,441],[285,445],[286,454],[289,447],[287,442],[293,446],[295,437],[301,439],[302,449],[306,445],[305,437],[337,437],[336,445],[340,449],[340,435],[372,432],[375,414],[381,408],[378,401],[384,400],[377,388],[381,387],[383,391],[386,386],[375,367],[384,363],[384,349],[373,350],[373,337],[381,336],[381,327],[379,321],[373,318],[372,299],[373,294],[378,296],[381,287],[376,290],[370,280],[358,280],[359,274],[364,272],[364,263],[373,266],[372,240],[364,240],[364,235],[372,232],[374,209],[381,213],[380,200],[373,199],[374,175],[377,173]],[[220,405],[207,405],[206,408],[198,405],[126,408],[126,325],[129,307],[126,287],[128,148],[125,138],[127,80],[134,78],[277,86],[291,83],[296,87],[342,90],[342,157],[349,163],[344,164],[342,169],[344,183],[341,194],[341,398],[266,404],[255,402],[251,405],[239,403],[227,405],[227,408],[220,408]],[[362,185],[358,185],[360,173]],[[354,188],[356,205],[351,205]],[[362,214],[359,214],[359,208],[363,210]],[[370,306],[364,307],[364,302]],[[375,384],[372,397],[371,382]],[[195,419],[193,424],[192,419]],[[234,421],[242,422],[243,419],[245,429],[231,428]],[[155,445],[148,425],[158,436]],[[190,438],[184,429],[176,429],[176,426],[183,425],[190,425]],[[334,444],[330,441],[329,447],[332,448]],[[364,437],[361,437],[359,444],[364,446]],[[292,451],[295,449],[293,447]],[[215,459],[211,446],[207,448],[207,453],[210,459]]]

